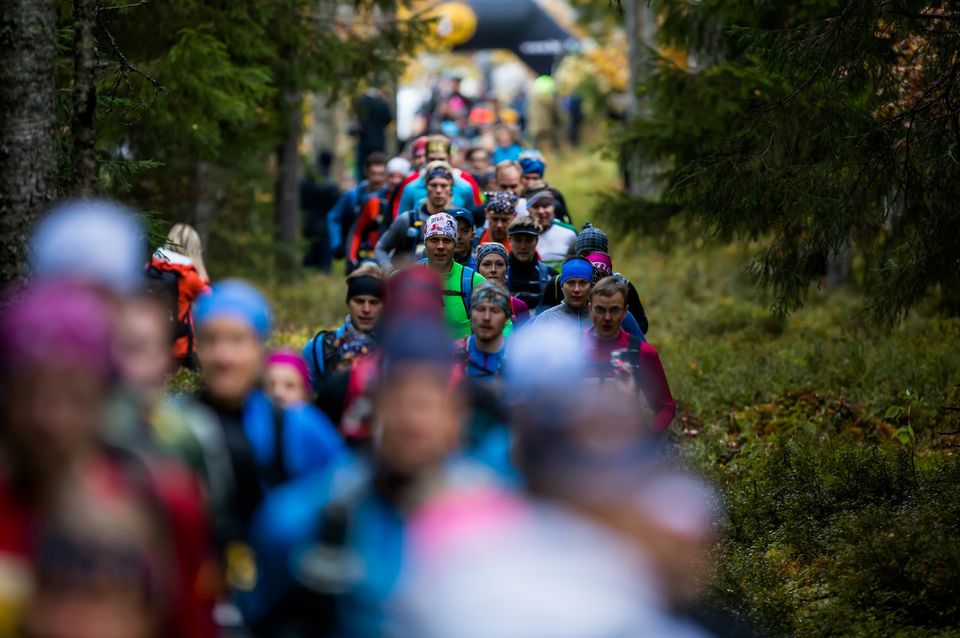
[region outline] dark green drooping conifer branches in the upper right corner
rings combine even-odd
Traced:
[[[762,238],[749,272],[782,313],[848,243],[874,320],[902,319],[931,291],[956,311],[954,9],[748,5],[653,3],[661,43],[693,63],[657,60],[635,87],[650,114],[615,142],[655,158],[667,190],[656,206],[621,202],[624,218],[684,212],[723,239]]]

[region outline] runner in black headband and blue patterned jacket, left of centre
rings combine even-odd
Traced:
[[[335,330],[321,330],[300,351],[314,389],[329,374],[348,368],[358,356],[375,349],[372,336],[383,312],[383,271],[364,264],[346,281],[348,312],[343,323]]]

